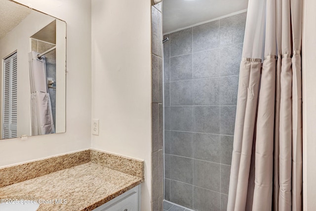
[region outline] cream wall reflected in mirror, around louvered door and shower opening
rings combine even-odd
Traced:
[[[53,17],[32,11],[19,25],[0,40],[0,59],[17,50],[17,134],[30,135],[30,74],[29,57],[30,37],[54,20]],[[34,24],[36,22],[36,24]],[[1,73],[3,76],[3,73]],[[1,80],[2,82],[2,80]]]

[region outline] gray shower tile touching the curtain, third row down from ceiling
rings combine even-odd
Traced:
[[[239,76],[220,77],[221,105],[237,105]]]

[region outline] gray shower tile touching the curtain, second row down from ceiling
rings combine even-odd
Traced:
[[[235,44],[220,48],[220,75],[239,75],[243,44]]]

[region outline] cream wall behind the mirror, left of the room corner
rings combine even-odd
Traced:
[[[0,140],[0,167],[87,149],[91,139],[91,1],[16,1],[67,22],[67,124],[66,133]]]

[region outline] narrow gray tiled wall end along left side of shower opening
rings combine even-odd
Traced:
[[[163,106],[161,3],[152,6],[152,211],[163,210]]]

